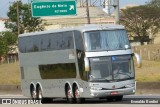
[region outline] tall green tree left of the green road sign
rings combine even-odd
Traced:
[[[42,19],[33,18],[31,16],[31,5],[22,4],[21,1],[18,1],[19,8],[19,28],[20,34],[24,32],[34,32],[34,31],[42,31],[44,30],[44,26],[42,24]],[[9,17],[9,21],[6,21],[6,28],[11,29],[12,32],[18,34],[17,27],[17,2],[14,2],[9,7],[9,12],[7,13]]]

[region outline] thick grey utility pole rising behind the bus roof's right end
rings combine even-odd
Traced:
[[[115,24],[119,24],[119,0],[114,0]]]

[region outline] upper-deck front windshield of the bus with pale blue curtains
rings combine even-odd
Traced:
[[[125,30],[89,31],[84,33],[86,51],[123,50],[130,44]]]

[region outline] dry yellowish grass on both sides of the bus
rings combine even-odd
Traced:
[[[160,62],[142,61],[142,67],[135,65],[135,76],[138,82],[160,82]],[[20,85],[19,63],[0,64],[0,84]]]

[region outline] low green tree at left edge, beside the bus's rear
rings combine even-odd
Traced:
[[[17,35],[5,31],[0,33],[0,56],[5,56],[9,51],[14,50],[14,45],[17,43]]]

